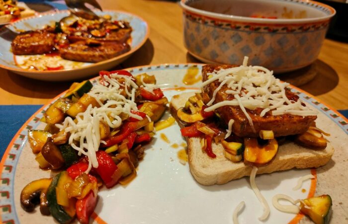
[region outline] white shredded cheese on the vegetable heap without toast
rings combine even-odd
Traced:
[[[99,107],[87,107],[85,112],[80,112],[76,120],[66,117],[63,124],[56,124],[62,131],[70,132],[69,144],[78,151],[79,155],[88,157],[88,169],[97,168],[98,162],[95,152],[100,143],[99,123],[107,123],[111,128],[118,128],[122,124],[122,115],[143,119],[141,116],[131,113],[138,111],[135,101],[135,91],[138,89],[132,77],[111,74],[103,77],[103,84],[97,83],[88,93],[99,104]],[[123,82],[118,80],[122,79]],[[123,92],[124,91],[124,92]],[[125,93],[125,94],[124,94]],[[124,96],[126,95],[126,97]],[[146,119],[149,117],[147,116]]]

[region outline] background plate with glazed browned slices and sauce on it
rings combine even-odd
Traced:
[[[33,79],[82,79],[121,63],[149,36],[147,22],[136,15],[95,13],[99,20],[70,17],[62,23],[69,12],[51,11],[3,27],[0,67]]]

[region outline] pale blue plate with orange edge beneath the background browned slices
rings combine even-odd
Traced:
[[[16,65],[15,57],[10,50],[11,40],[8,38],[10,33],[7,29],[17,32],[16,30],[34,30],[43,28],[45,25],[59,21],[61,18],[69,14],[68,10],[63,11],[49,11],[41,13],[32,17],[23,18],[6,25],[0,29],[0,68],[7,69],[22,76],[33,79],[46,81],[67,81],[78,80],[98,74],[101,70],[108,70],[119,63],[126,60],[132,53],[138,50],[149,37],[149,25],[141,17],[131,14],[129,12],[105,10],[95,11],[96,14],[110,15],[112,20],[126,20],[132,27],[131,33],[131,49],[130,51],[121,54],[117,57],[97,62],[97,63],[81,63],[77,68],[63,69],[56,71],[37,71],[30,69],[23,69]],[[68,61],[71,62],[71,61]]]

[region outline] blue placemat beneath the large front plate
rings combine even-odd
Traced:
[[[39,110],[42,105],[1,105],[0,106],[0,157],[18,129]],[[348,110],[339,111],[348,117]]]

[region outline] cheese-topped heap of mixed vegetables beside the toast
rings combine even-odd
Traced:
[[[96,85],[74,83],[46,110],[44,130],[29,130],[29,144],[40,168],[59,172],[34,180],[20,197],[23,209],[40,205],[42,215],[61,223],[75,217],[82,224],[97,203],[103,185],[127,185],[137,175],[144,144],[154,135],[154,122],[168,100],[155,77],[127,71],[101,71]]]

